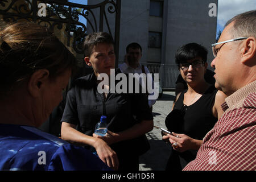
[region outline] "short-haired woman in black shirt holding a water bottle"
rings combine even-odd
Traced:
[[[115,70],[114,41],[110,34],[92,32],[86,36],[84,52],[85,63],[93,68],[93,73],[78,78],[69,90],[61,119],[61,137],[96,150],[99,158],[113,169],[138,171],[139,156],[150,148],[145,134],[154,126],[147,94],[118,93],[112,89],[120,82],[110,80],[121,71]],[[110,74],[111,69],[116,75]],[[102,81],[100,75],[106,76],[104,82],[105,78],[108,80],[102,93],[97,89]],[[125,86],[131,88],[133,85],[127,80]],[[101,115],[107,117],[108,123],[104,137],[94,134]]]

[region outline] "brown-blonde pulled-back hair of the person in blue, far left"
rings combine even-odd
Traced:
[[[48,28],[19,22],[0,31],[0,90],[29,78],[38,69],[48,69],[54,78],[76,68],[76,59]]]

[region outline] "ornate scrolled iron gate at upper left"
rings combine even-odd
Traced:
[[[100,9],[100,15],[97,15],[98,19],[96,19],[96,15],[92,11],[93,9]],[[52,29],[57,27],[61,30],[65,27],[67,39],[64,44],[67,46],[72,44],[72,48],[76,53],[82,53],[82,41],[87,35],[86,26],[89,25],[93,31],[103,31],[105,22],[108,32],[112,34],[107,13],[115,14],[115,35],[112,36],[115,40],[117,60],[119,52],[120,10],[121,0],[105,0],[97,5],[80,5],[63,0],[0,0],[0,15],[2,15],[2,19],[5,22],[28,20],[45,24]],[[86,25],[79,21],[81,17],[86,19]],[[99,26],[97,26],[97,21]]]

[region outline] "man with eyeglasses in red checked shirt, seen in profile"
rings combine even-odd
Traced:
[[[212,44],[225,111],[184,170],[256,170],[256,10],[229,20]]]

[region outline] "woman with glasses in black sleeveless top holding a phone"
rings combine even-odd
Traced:
[[[185,44],[176,52],[175,61],[188,89],[177,95],[166,117],[172,135],[163,135],[163,140],[173,148],[166,170],[181,170],[195,159],[204,136],[223,113],[225,94],[204,79],[207,53],[207,49],[196,43]]]

